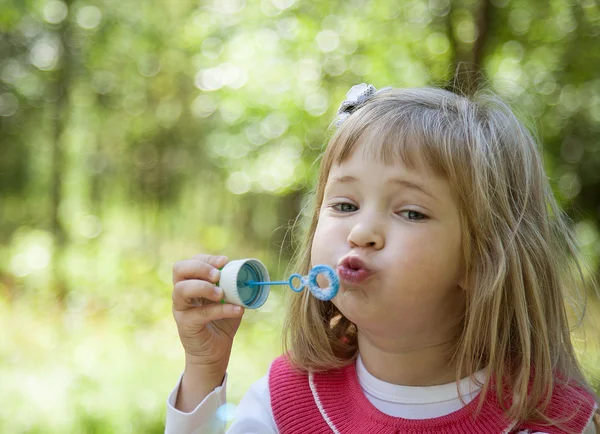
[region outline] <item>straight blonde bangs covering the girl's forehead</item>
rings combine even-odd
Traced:
[[[329,141],[321,164],[321,185],[328,184],[332,171],[369,163],[372,172],[393,168],[399,172],[396,176],[410,174],[413,179],[434,182],[445,193],[450,183],[456,186],[454,163],[460,146],[453,145],[455,135],[451,129],[432,127],[443,124],[434,116],[437,111],[409,110],[405,105],[382,102],[349,116]]]

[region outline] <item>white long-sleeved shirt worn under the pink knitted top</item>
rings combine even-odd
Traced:
[[[456,383],[439,386],[413,387],[386,383],[371,375],[360,356],[356,362],[359,384],[367,399],[382,413],[405,419],[428,419],[450,414],[462,408]],[[483,382],[485,371],[475,373]],[[167,399],[167,421],[165,434],[222,434],[225,432],[226,384],[211,392],[192,412],[183,413],[175,409],[175,400],[181,384],[173,389]],[[459,382],[465,404],[477,396],[481,388],[470,378]],[[587,433],[588,431],[586,431]],[[594,431],[591,431],[594,432]],[[254,383],[242,398],[235,411],[235,420],[227,434],[278,434],[271,409],[268,374]],[[528,433],[521,431],[519,434]]]

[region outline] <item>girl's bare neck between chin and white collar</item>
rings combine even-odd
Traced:
[[[436,386],[456,380],[456,365],[450,362],[452,340],[407,345],[359,330],[358,347],[367,371],[387,383]]]

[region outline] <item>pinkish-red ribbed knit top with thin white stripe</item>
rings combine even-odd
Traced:
[[[294,371],[282,356],[269,373],[271,407],[281,434],[506,434],[513,430],[564,431],[536,424],[516,427],[507,420],[495,393],[488,393],[477,418],[471,416],[478,404],[472,400],[462,409],[431,419],[403,419],[377,410],[365,397],[355,365],[326,373],[303,374]],[[594,400],[577,387],[557,386],[547,415],[573,416],[566,428],[583,432],[594,411]]]

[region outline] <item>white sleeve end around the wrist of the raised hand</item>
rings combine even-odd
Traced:
[[[223,434],[225,432],[225,421],[217,417],[217,410],[226,402],[227,374],[225,374],[223,384],[216,387],[189,413],[184,413],[175,408],[182,377],[183,374],[179,377],[177,386],[167,398],[165,434]]]

